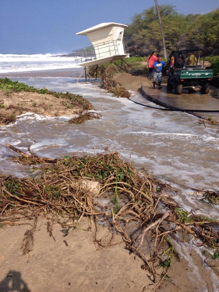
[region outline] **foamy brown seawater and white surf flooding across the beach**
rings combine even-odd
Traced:
[[[197,199],[192,190],[219,188],[217,128],[210,125],[204,128],[198,124],[199,118],[187,113],[159,111],[115,98],[100,88],[98,80],[86,82],[82,77],[77,83],[83,68],[77,67],[74,58],[0,55],[1,58],[4,60],[0,64],[1,78],[7,76],[36,88],[81,94],[102,118],[73,125],[67,123],[70,118],[67,116],[22,115],[15,124],[0,127],[0,172],[19,177],[30,174],[27,166],[7,160],[15,154],[6,147],[7,143],[24,152],[30,147],[36,155],[50,158],[75,152],[104,153],[108,147],[127,161],[131,156],[135,168],[144,168],[178,189],[175,200],[186,210],[219,219],[218,206]],[[74,75],[77,71],[77,77],[71,77],[73,71]],[[140,93],[132,92],[131,98],[154,105]],[[191,261],[186,252],[184,258]],[[195,277],[195,281],[206,285],[201,275]],[[216,286],[213,287],[213,291],[217,291]]]

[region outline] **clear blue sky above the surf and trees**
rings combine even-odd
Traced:
[[[219,7],[218,0],[157,2],[175,5],[185,15]],[[154,5],[154,0],[1,0],[0,53],[71,53],[91,44],[77,32],[102,22],[129,24]]]

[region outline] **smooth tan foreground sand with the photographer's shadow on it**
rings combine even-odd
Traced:
[[[34,246],[25,255],[21,245],[33,221],[1,228],[1,292],[152,291],[149,274],[141,269],[141,261],[129,254],[121,236],[116,235],[114,246],[100,249],[86,219],[67,237],[60,232],[61,226],[54,224],[55,240],[47,232],[47,222],[53,225],[49,219],[37,218]],[[108,228],[98,228],[99,239],[107,243]]]

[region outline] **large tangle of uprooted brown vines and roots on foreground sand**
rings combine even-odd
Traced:
[[[126,162],[117,152],[106,149],[105,154],[77,153],[48,159],[7,146],[21,155],[11,160],[38,165],[33,166],[37,173],[25,178],[0,174],[0,224],[49,214],[50,219],[54,218],[61,225],[65,237],[78,228],[83,216],[95,224],[98,220],[108,220],[112,237],[105,245],[99,240],[95,240],[96,244],[101,248],[113,244],[113,236],[119,232],[126,248],[142,258],[143,268],[153,275],[154,282],[168,277],[167,271],[178,257],[172,235],[175,238],[180,230],[187,232],[194,244],[201,240],[212,249],[214,257],[218,257],[219,221],[204,214],[188,213],[173,199],[173,193],[177,195],[178,190],[145,170],[133,168],[131,161]],[[92,193],[83,186],[85,178],[99,183],[100,188]],[[106,196],[110,196],[114,204],[110,212],[101,204],[101,198]],[[62,219],[67,217],[67,221]],[[124,223],[133,221],[139,224],[135,238],[123,229]],[[150,238],[146,243],[151,251],[147,257],[141,251],[145,237]],[[29,250],[25,246],[23,252]]]

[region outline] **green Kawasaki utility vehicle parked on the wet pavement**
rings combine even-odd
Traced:
[[[175,94],[181,94],[183,89],[201,88],[201,93],[207,94],[213,70],[205,69],[204,50],[178,50],[171,56],[174,57],[174,67],[168,68],[167,89],[174,88]]]

